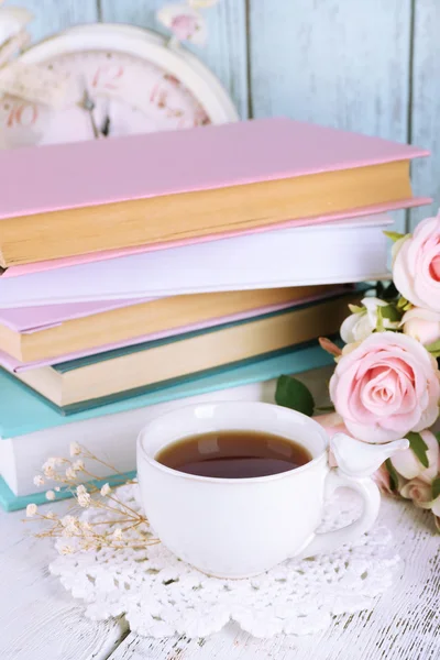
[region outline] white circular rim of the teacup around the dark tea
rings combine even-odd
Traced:
[[[293,410],[290,408],[283,408],[283,409],[286,411],[289,411],[293,415],[305,418],[309,424],[315,426],[316,430],[318,431],[318,433],[320,435],[320,437],[323,440],[323,449],[318,455],[312,458],[311,461],[308,461],[307,463],[305,463],[304,465],[300,465],[299,468],[293,468],[292,470],[286,470],[285,472],[278,472],[276,474],[267,474],[265,476],[250,476],[250,477],[243,477],[243,479],[223,477],[223,476],[202,476],[200,474],[188,474],[186,472],[179,472],[178,470],[174,470],[174,468],[168,468],[167,465],[160,463],[154,458],[148,455],[147,451],[144,448],[143,437],[144,437],[146,430],[155,421],[161,420],[164,417],[169,417],[172,415],[178,414],[179,411],[189,410],[190,408],[196,408],[196,407],[197,408],[208,407],[208,406],[209,407],[212,407],[212,406],[223,407],[223,406],[230,406],[230,405],[234,405],[234,406],[253,405],[253,406],[255,406],[256,404],[258,405],[258,407],[264,406],[264,407],[271,407],[271,408],[283,408],[283,406],[278,406],[276,404],[268,404],[266,402],[219,400],[219,402],[204,402],[200,404],[188,404],[186,406],[182,406],[180,408],[174,408],[173,410],[167,410],[166,413],[162,413],[161,415],[157,415],[157,417],[154,417],[151,421],[148,421],[140,431],[140,433],[138,436],[138,442],[136,442],[138,452],[141,452],[142,457],[153,468],[155,468],[156,470],[161,470],[162,472],[165,472],[165,474],[169,474],[169,475],[177,476],[180,479],[186,479],[189,481],[197,481],[197,482],[202,482],[202,483],[217,483],[217,484],[227,484],[228,483],[228,484],[235,484],[238,486],[243,485],[243,484],[265,483],[265,482],[276,481],[279,479],[286,479],[288,476],[292,476],[293,474],[297,474],[298,472],[305,472],[310,466],[317,465],[319,462],[322,462],[322,460],[326,460],[326,462],[327,462],[326,451],[329,447],[329,437],[328,437],[326,429],[323,429],[321,427],[321,425],[318,424],[311,417],[308,417],[307,415],[304,415],[302,413],[299,413],[298,410]],[[180,439],[183,440],[185,437],[186,436],[182,436]],[[139,465],[138,465],[138,471],[139,471]]]

